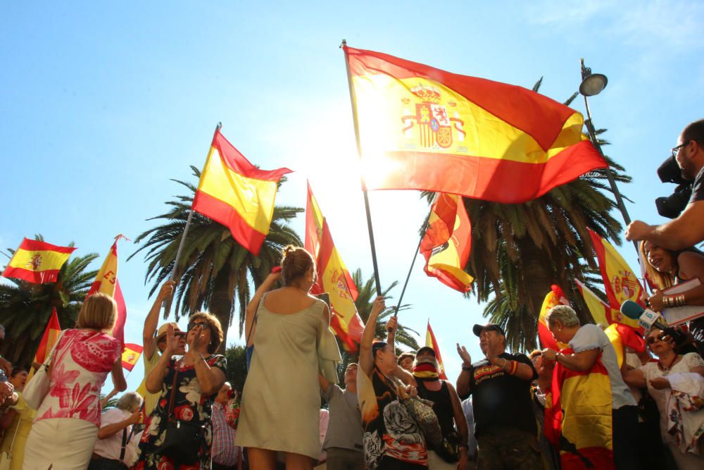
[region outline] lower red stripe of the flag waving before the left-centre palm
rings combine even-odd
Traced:
[[[239,213],[232,209],[232,206],[210,196],[210,194],[197,191],[196,197],[193,199],[193,210],[206,214],[213,221],[230,228],[234,240],[237,240],[237,243],[246,248],[251,254],[258,256],[266,235],[246,223]]]

